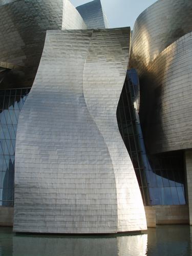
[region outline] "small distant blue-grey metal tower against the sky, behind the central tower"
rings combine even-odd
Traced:
[[[108,28],[108,20],[103,13],[101,1],[94,0],[90,3],[76,7],[89,29]]]

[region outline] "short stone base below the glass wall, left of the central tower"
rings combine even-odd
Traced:
[[[13,207],[0,206],[0,226],[13,226]]]

